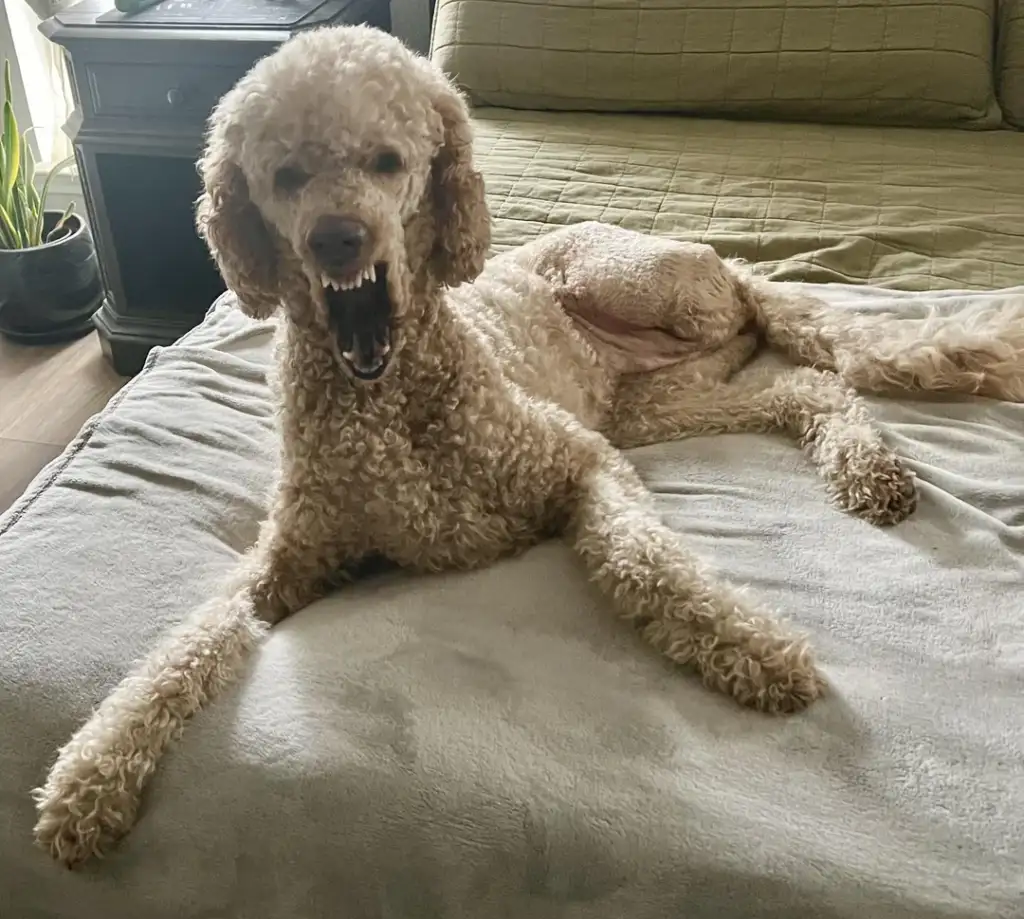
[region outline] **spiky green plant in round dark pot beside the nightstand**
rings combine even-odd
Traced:
[[[84,335],[102,301],[92,234],[75,213],[46,210],[50,180],[74,158],[35,185],[29,131],[18,133],[10,61],[4,64],[0,136],[0,334],[24,343]],[[31,130],[31,128],[29,129]]]

